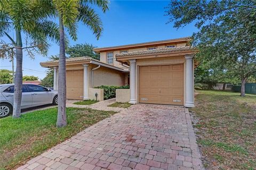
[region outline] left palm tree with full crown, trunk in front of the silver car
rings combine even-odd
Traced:
[[[16,71],[14,80],[13,117],[20,117],[22,94],[22,57],[23,50],[36,49],[45,55],[49,44],[47,38],[58,40],[58,25],[46,20],[54,8],[49,8],[49,1],[1,0],[0,1],[0,36],[6,36],[15,45]],[[47,10],[45,10],[47,7]],[[47,13],[48,12],[48,13]],[[9,35],[14,30],[15,40]],[[22,47],[22,35],[26,35],[26,47]],[[29,54],[29,51],[28,51]],[[33,55],[33,54],[32,54]]]

